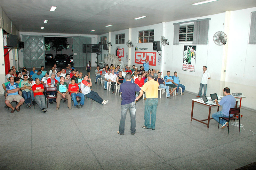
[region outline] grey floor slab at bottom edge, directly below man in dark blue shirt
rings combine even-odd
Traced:
[[[118,135],[87,143],[103,169],[140,169],[164,162],[134,135]]]

